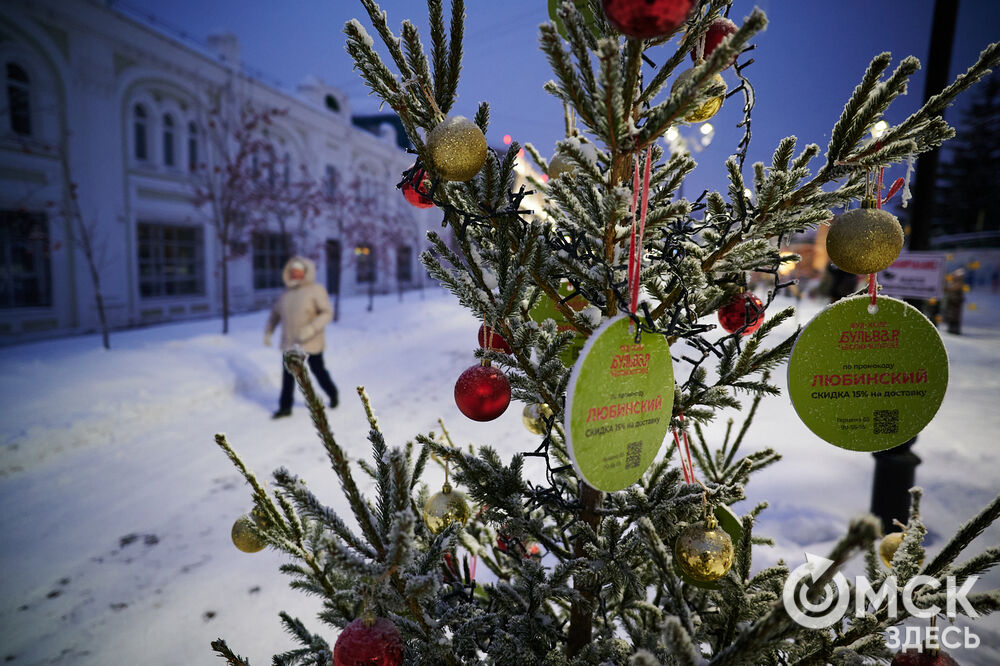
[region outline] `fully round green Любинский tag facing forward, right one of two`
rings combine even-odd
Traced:
[[[816,315],[788,360],[788,393],[819,437],[852,451],[884,451],[915,437],[948,388],[948,355],[916,308],[845,298]]]

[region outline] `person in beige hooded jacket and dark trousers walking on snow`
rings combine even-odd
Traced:
[[[281,273],[285,291],[271,309],[264,329],[264,344],[271,345],[271,334],[281,324],[281,351],[299,347],[308,356],[306,362],[320,387],[330,397],[330,407],[337,406],[337,386],[323,364],[325,336],[323,329],[333,319],[330,296],[316,282],[316,265],[305,257],[292,257]],[[280,419],[292,414],[295,378],[282,364],[281,397],[278,411],[271,415]]]

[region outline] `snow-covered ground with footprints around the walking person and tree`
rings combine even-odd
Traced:
[[[969,301],[978,309],[966,312],[965,334],[943,334],[951,384],[915,449],[932,550],[1000,489],[1000,296],[973,292]],[[803,305],[801,323],[820,307]],[[347,300],[343,310],[327,331],[326,357],[341,388],[331,422],[352,455],[369,452],[352,391],[359,384],[390,443],[436,429],[440,416],[457,442],[508,456],[534,448],[520,405],[491,423],[455,407],[452,389],[473,362],[478,323],[450,295],[380,297],[372,313],[364,299]],[[331,633],[314,619],[318,603],[287,587],[282,556],[241,553],[229,538],[249,494],[216,432],[259,477],[284,465],[344,507],[301,400],[292,418],[269,419],[280,360],[261,343],[264,319],[235,317],[229,336],[217,320],[116,333],[110,352],[95,336],[0,349],[0,659],[210,664],[209,642],[222,636],[252,663],[268,663],[292,647],[279,610]],[[868,510],[871,456],[819,441],[787,398],[763,403],[744,446],[785,457],[748,489],[750,502],[771,504],[757,533],[778,542],[759,550],[759,566],[825,553],[847,520]],[[998,537],[994,527],[974,548]],[[977,589],[998,585],[993,574]],[[973,628],[983,645],[959,661],[1000,663],[1000,624],[985,618]]]

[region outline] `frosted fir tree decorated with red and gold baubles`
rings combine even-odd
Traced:
[[[886,74],[891,59],[880,55],[847,101],[824,156],[814,144],[797,150],[789,137],[770,165],[748,167],[754,98],[745,52],[765,26],[763,13],[754,10],[737,26],[724,18],[731,9],[725,0],[563,2],[558,26],[543,25],[540,43],[555,77],[546,88],[566,107],[566,139],[552,161],[526,146],[550,176],[534,183],[544,211],[530,213],[523,207],[528,192],[514,187],[520,146],[512,143],[505,154],[487,149],[488,104],[472,120],[447,115],[459,89],[464,3],[453,1],[446,19],[441,0],[429,0],[429,52],[409,21],[397,36],[373,0],[361,4],[389,59],[358,20],[344,29],[347,50],[416,147],[400,186],[408,200],[437,205],[454,234],[452,242],[430,233],[424,264],[484,322],[481,364],[463,375],[456,400],[464,413],[486,420],[512,396],[527,406],[526,423],[542,441],[501,460],[488,442],[475,452],[452,446],[442,424],[437,435],[390,446],[359,389],[372,456],[350,460],[302,357],[288,353],[352,515],[324,506],[289,470],[274,473],[268,492],[217,437],[253,491],[253,515],[241,519],[234,540],[247,550],[287,553],[292,562],[282,570],[292,585],[323,599],[316,624],[326,627],[281,615],[301,647],[274,663],[722,666],[889,658],[885,630],[908,612],[889,617],[882,608],[826,629],[800,626],[782,599],[788,569],[752,573],[754,549],[768,543],[754,534],[766,506],[742,516],[728,507],[745,498],[755,471],[779,459],[770,449],[746,453],[741,443],[758,401],[777,393],[769,373],[794,340],[769,337],[791,315],[770,311],[786,286],[777,270],[789,260],[779,254],[782,239],[871,193],[873,171],[948,139],[953,132],[942,111],[1000,60],[1000,48],[989,46],[966,74],[874,142],[866,138],[870,128],[919,66],[905,58]],[[647,4],[662,10],[657,22],[624,11]],[[644,32],[651,25],[653,32]],[[728,93],[723,70],[736,82]],[[665,156],[657,140],[741,101],[745,135],[726,162],[727,191],[679,197],[696,164],[687,154]],[[751,271],[773,276],[766,300],[745,291]],[[716,312],[728,334],[706,323]],[[604,493],[578,470],[565,416],[580,347],[616,317],[637,344],[670,345],[673,395],[668,390],[661,405],[635,409],[666,404],[674,436],[637,482]],[[743,427],[723,442],[707,441],[702,425],[741,399],[752,403]],[[525,478],[529,456],[544,459],[543,483]],[[433,495],[421,483],[432,459],[451,472]],[[361,494],[357,473],[374,480],[374,496]],[[900,586],[918,573],[965,580],[997,563],[997,547],[959,557],[1000,514],[1000,498],[927,563],[918,499],[901,543],[886,544]],[[832,566],[806,580],[805,593],[821,596],[858,552],[867,553],[872,582],[883,580],[879,533],[873,518],[853,522],[829,555]],[[473,562],[490,570],[490,581],[475,580]],[[849,592],[852,608],[856,594]],[[925,592],[920,603],[940,602],[942,594]],[[969,601],[987,613],[1000,597],[992,591]],[[324,636],[341,630],[334,654]],[[213,647],[231,664],[249,663],[224,641]]]

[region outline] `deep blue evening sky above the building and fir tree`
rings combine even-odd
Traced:
[[[212,32],[231,31],[240,39],[245,63],[284,87],[292,89],[313,74],[345,90],[355,113],[378,108],[352,71],[343,46],[342,29],[350,18],[358,17],[370,29],[357,2],[127,0],[120,4],[151,13],[201,41]],[[730,17],[739,23],[753,6],[737,2]],[[756,39],[754,64],[745,70],[757,93],[748,166],[757,160],[769,162],[778,141],[791,134],[800,145],[814,142],[825,151],[830,128],[876,54],[891,52],[894,64],[907,55],[921,61],[927,56],[933,0],[760,0],[757,6],[768,15],[769,25]],[[382,7],[397,34],[402,20],[410,18],[428,45],[423,2],[385,0]],[[548,20],[547,1],[468,0],[467,14],[464,69],[454,112],[471,116],[480,100],[488,100],[493,118],[491,145],[500,145],[501,137],[509,133],[551,154],[555,141],[562,137],[563,120],[560,104],[542,90],[552,78],[537,48],[538,25]],[[998,39],[1000,2],[963,0],[952,75],[964,71],[987,42]],[[660,50],[665,48],[669,47]],[[648,54],[654,62],[666,58],[657,49]],[[731,73],[724,76],[730,85],[734,83]],[[899,122],[916,109],[923,88],[920,72],[912,79],[909,94],[890,108],[887,119]],[[701,166],[687,181],[689,195],[706,187],[725,188],[723,163],[741,136],[736,128],[742,118],[740,100],[739,96],[730,98],[712,119],[715,138],[695,156]],[[946,119],[954,123],[958,113],[950,110]],[[891,177],[902,175],[901,167],[898,171]]]

